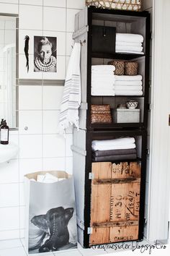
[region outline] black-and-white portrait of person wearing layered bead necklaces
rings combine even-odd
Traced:
[[[34,72],[57,72],[57,38],[34,36]]]

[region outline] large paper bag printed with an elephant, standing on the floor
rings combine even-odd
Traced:
[[[53,183],[36,182],[37,175],[46,173],[63,180]],[[65,171],[39,171],[25,175],[24,184],[27,252],[32,254],[76,248],[73,176]]]

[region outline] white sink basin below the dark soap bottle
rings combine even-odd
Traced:
[[[0,144],[0,163],[4,163],[14,158],[18,153],[18,147],[14,143],[8,145]]]

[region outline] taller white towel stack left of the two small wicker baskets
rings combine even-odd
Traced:
[[[114,71],[113,65],[91,66],[91,95],[115,95]]]

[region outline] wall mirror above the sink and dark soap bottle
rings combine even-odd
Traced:
[[[16,128],[17,17],[0,16],[0,119]]]

